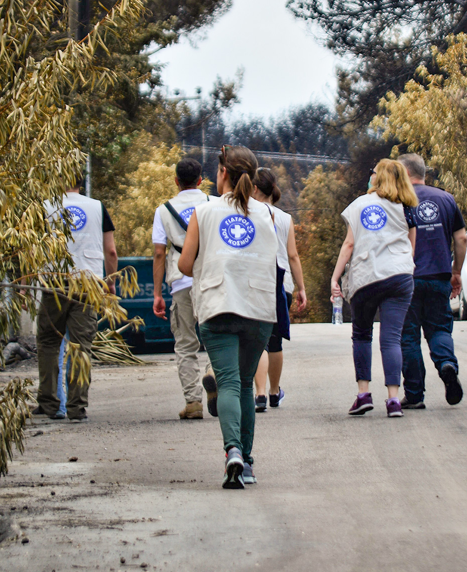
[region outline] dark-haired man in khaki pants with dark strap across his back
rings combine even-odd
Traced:
[[[208,200],[199,190],[201,165],[191,158],[182,159],[176,166],[175,184],[179,193],[156,209],[152,227],[154,244],[154,304],[157,317],[165,317],[165,302],[162,297],[162,281],[165,276],[171,288],[172,305],[171,330],[175,337],[175,356],[185,407],[180,411],[180,419],[203,419],[203,386],[200,383],[200,368],[196,353],[200,344],[196,335],[196,319],[191,304],[192,279],[183,275],[178,267],[181,248],[185,240],[185,230],[195,206]],[[171,245],[168,249],[167,241]]]

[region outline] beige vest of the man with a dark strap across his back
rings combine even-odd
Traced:
[[[179,213],[181,218],[188,224],[190,217],[195,210],[195,206],[203,204],[208,200],[208,196],[199,191],[185,190],[181,194],[177,194],[169,200],[173,208]],[[169,286],[175,280],[181,280],[183,274],[179,271],[179,258],[180,252],[177,252],[173,245],[182,248],[185,241],[185,231],[180,227],[180,224],[173,218],[167,206],[161,205],[159,209],[162,224],[164,225],[165,234],[167,238],[171,241],[171,246],[167,258],[165,259],[165,281]]]

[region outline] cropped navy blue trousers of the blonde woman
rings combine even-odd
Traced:
[[[379,349],[386,386],[400,386],[402,369],[401,332],[413,292],[410,274],[391,276],[360,288],[350,300],[352,340],[357,381],[371,381],[373,321],[379,309]]]

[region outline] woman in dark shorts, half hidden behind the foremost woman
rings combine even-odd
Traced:
[[[274,205],[280,198],[280,189],[276,182],[276,176],[271,169],[260,167],[256,171],[256,175],[252,180],[254,185],[253,197],[260,202],[267,202]],[[279,209],[272,206],[274,210],[274,224],[278,237],[278,264],[281,268],[285,268],[284,288],[287,295],[287,304],[290,308],[292,303],[292,292],[294,291],[294,281],[298,286],[296,296],[298,311],[302,311],[306,307],[306,293],[303,282],[302,264],[295,244],[294,223],[292,217]],[[272,335],[259,360],[258,370],[255,375],[255,406],[257,412],[266,411],[266,381],[269,374],[269,404],[271,407],[279,407],[284,399],[284,391],[279,387],[280,374],[282,372],[282,337],[279,334],[277,324],[272,328]]]

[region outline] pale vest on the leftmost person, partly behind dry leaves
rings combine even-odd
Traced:
[[[56,218],[50,201],[44,206],[49,218]],[[68,250],[73,257],[74,267],[90,270],[98,277],[104,276],[104,252],[102,233],[102,203],[79,193],[66,193],[63,206],[72,217],[72,239],[68,241]]]

